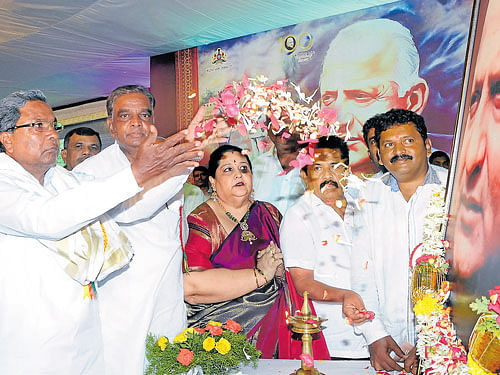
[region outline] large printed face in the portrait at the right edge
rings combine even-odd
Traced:
[[[450,233],[453,268],[484,295],[500,269],[500,2],[490,1],[458,149]],[[456,188],[455,188],[456,187]],[[447,235],[448,236],[448,235]],[[473,298],[473,297],[472,297]]]

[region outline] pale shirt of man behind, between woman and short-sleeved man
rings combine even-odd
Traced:
[[[299,199],[305,191],[300,170],[293,168],[285,175],[274,148],[252,160],[254,197],[269,202],[285,215],[286,210]]]

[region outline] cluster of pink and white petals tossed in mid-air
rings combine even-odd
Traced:
[[[306,97],[299,86],[288,80],[271,85],[266,85],[267,81],[264,76],[249,78],[244,75],[240,82],[226,85],[218,96],[209,99],[214,105],[212,114],[224,116],[229,126],[238,129],[241,135],[256,133],[258,129],[281,133],[284,139],[298,134],[299,143],[307,143],[308,147],[301,149],[297,159],[290,162],[294,168],[313,163],[314,143],[319,137],[337,135],[346,141],[351,137],[348,128],[344,130],[345,134],[340,132],[335,110],[321,109],[319,101],[311,105],[316,91]],[[292,92],[298,97],[297,101]],[[215,120],[210,120],[198,126],[196,135],[212,132],[214,125]],[[263,150],[266,144],[259,142],[258,146]]]

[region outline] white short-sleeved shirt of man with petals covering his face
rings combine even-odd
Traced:
[[[314,271],[314,280],[331,287],[351,289],[351,227],[356,209],[349,195],[344,220],[315,194],[306,193],[290,207],[280,229],[281,250],[287,268]],[[324,323],[328,351],[332,357],[366,358],[361,335],[344,321],[342,304],[313,301]]]

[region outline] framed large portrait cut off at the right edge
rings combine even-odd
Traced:
[[[454,322],[467,343],[469,304],[500,284],[500,1],[474,4],[448,185],[446,239]]]

